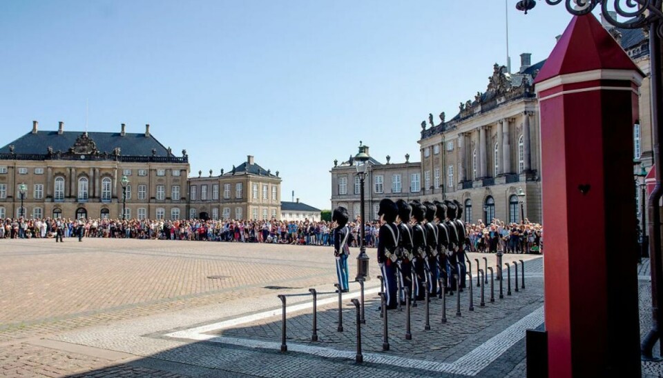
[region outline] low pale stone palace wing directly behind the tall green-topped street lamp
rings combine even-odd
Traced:
[[[368,148],[366,150],[368,152]],[[383,198],[421,199],[423,184],[421,182],[421,163],[410,162],[406,155],[405,162],[380,163],[371,158],[364,179],[364,211],[367,220],[378,219],[378,205]],[[354,161],[349,159],[332,168],[332,209],[338,206],[347,208],[351,219],[359,217],[361,212],[360,181]]]

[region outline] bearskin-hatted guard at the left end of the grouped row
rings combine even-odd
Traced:
[[[396,248],[398,247],[399,232],[396,226],[398,208],[391,199],[380,201],[378,217],[384,222],[378,231],[378,263],[385,281],[385,295],[387,310],[396,308]]]

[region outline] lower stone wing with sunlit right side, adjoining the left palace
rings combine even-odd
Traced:
[[[249,155],[221,175],[189,179],[189,217],[210,219],[278,219],[281,179],[258,166]]]

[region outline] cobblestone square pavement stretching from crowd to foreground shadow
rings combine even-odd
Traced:
[[[352,252],[354,273],[358,251]],[[375,250],[367,252],[371,276],[376,277]],[[481,268],[483,257],[495,265],[492,255],[469,257],[473,275],[475,258]],[[311,287],[333,290],[336,277],[329,248],[108,239],[56,245],[32,239],[2,241],[0,259],[0,376],[521,377],[522,329],[539,326],[542,319],[542,259],[505,255],[505,263],[526,261],[525,290],[509,297],[505,285],[505,299],[499,299],[496,286],[496,302],[490,303],[488,285],[482,308],[474,286],[474,311],[468,311],[465,290],[462,317],[455,316],[455,297],[447,297],[448,324],[440,323],[441,300],[432,299],[430,331],[423,330],[425,306],[420,303],[412,309],[412,341],[404,337],[405,309],[390,311],[390,351],[382,352],[374,294],[379,281],[372,279],[366,284],[372,293],[366,298],[362,334],[365,363],[358,365],[352,358],[356,312],[346,297],[345,330],[336,332],[334,294],[319,297],[320,341],[310,341],[310,310],[303,309],[288,315],[291,350],[278,350],[276,295]],[[513,280],[513,268],[511,273]],[[358,290],[357,284],[351,286],[352,292]],[[290,297],[288,304],[307,306],[309,301]],[[214,328],[222,321],[235,325],[202,332],[202,339],[171,336]],[[311,348],[339,354],[320,357],[311,354]],[[345,357],[348,353],[351,358]],[[476,362],[483,360],[487,362],[477,370]]]

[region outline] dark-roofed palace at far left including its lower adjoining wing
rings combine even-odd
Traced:
[[[189,170],[186,150],[175,156],[149,125],[141,133],[126,132],[124,124],[120,132],[79,132],[60,122],[57,131],[43,131],[33,121],[32,131],[0,148],[0,218],[115,219],[125,202],[126,217],[137,219],[248,219],[262,210],[256,202],[267,215],[280,214],[278,172],[271,175],[253,157],[217,177],[199,172],[189,179]],[[262,193],[256,201],[256,185],[264,184],[269,198]],[[265,210],[257,215],[262,219]]]

